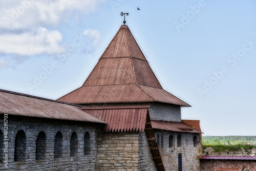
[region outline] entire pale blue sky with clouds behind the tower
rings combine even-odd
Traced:
[[[204,135],[256,136],[255,1],[0,0],[0,89],[57,99],[122,25]],[[137,7],[140,10],[137,10]]]

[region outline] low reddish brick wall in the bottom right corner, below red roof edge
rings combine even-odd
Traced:
[[[255,160],[200,160],[202,171],[255,171]]]

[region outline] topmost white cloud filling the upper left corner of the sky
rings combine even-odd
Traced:
[[[58,25],[71,14],[88,14],[105,0],[0,0],[0,28],[26,30]]]

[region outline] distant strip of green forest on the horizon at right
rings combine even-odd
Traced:
[[[256,144],[256,136],[202,136],[202,144]]]

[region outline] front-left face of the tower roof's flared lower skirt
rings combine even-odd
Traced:
[[[76,104],[154,101],[136,84],[81,87],[59,100]]]

